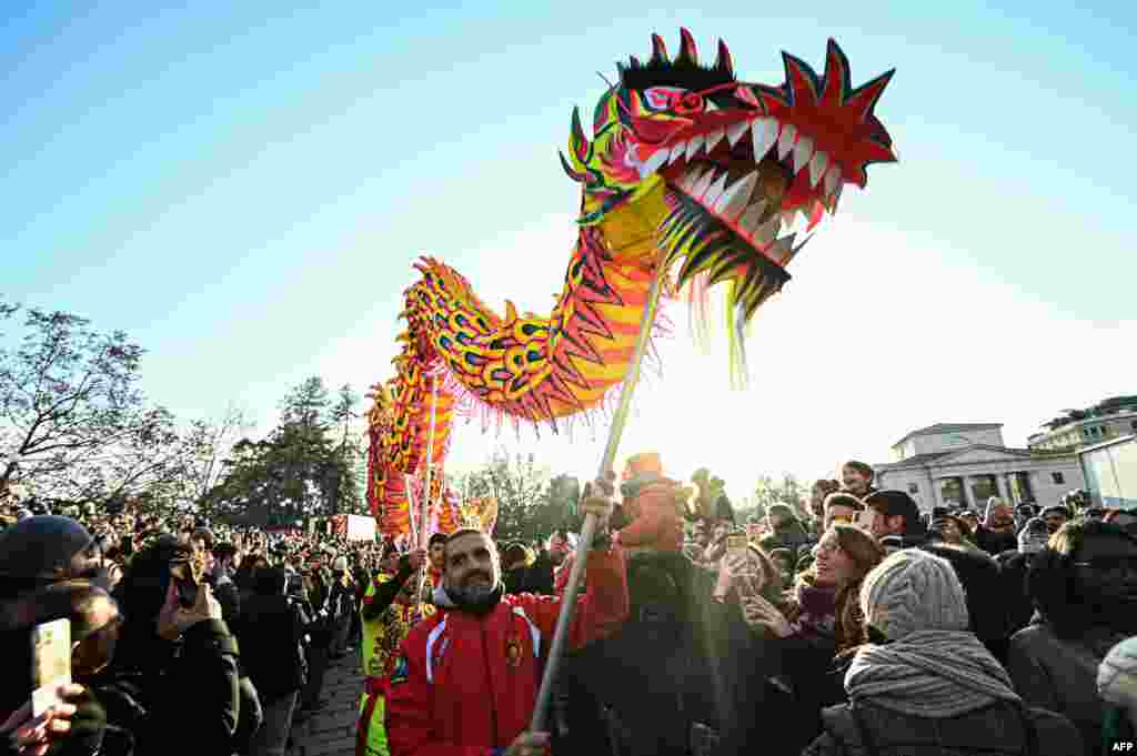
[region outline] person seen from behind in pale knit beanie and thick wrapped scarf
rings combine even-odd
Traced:
[[[952,565],[919,549],[889,556],[861,587],[869,643],[845,675],[849,703],[825,709],[803,756],[1085,754],[1068,720],[1027,708],[968,631]]]

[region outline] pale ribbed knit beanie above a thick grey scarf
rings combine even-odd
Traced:
[[[968,599],[946,559],[920,549],[893,554],[861,585],[864,621],[889,640],[918,630],[966,630]]]

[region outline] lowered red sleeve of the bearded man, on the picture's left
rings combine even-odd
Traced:
[[[426,634],[412,632],[405,638],[399,659],[387,686],[384,723],[391,756],[492,756],[492,748],[435,739],[434,690],[426,680]],[[400,671],[404,659],[406,667]]]

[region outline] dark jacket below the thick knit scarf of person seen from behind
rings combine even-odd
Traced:
[[[802,756],[1093,756],[1061,714],[1010,704],[948,718],[843,704],[821,718],[824,731]]]

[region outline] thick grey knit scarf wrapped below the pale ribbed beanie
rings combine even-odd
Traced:
[[[863,647],[845,674],[845,690],[854,703],[927,718],[1022,703],[979,639],[954,630],[921,630],[887,646]]]

